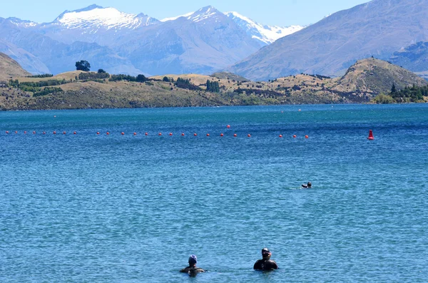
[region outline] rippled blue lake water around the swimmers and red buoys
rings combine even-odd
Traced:
[[[0,112],[0,282],[428,282],[427,168],[428,104]]]

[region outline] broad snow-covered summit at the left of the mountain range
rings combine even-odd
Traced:
[[[144,14],[126,14],[115,8],[91,5],[76,11],[64,11],[55,22],[68,29],[136,29],[158,20]]]

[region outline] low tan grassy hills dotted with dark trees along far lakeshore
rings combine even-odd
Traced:
[[[89,79],[88,76],[92,78]],[[14,77],[0,84],[0,108],[79,109],[191,106],[244,106],[305,103],[369,103],[379,93],[426,86],[422,78],[386,61],[357,61],[341,78],[300,74],[271,81],[238,81],[198,74],[143,78],[72,71],[49,78]],[[80,77],[80,78],[79,78]],[[168,78],[168,80],[164,77]],[[218,83],[216,93],[207,81]],[[180,83],[181,82],[181,83]],[[183,83],[184,82],[184,83]],[[403,101],[406,100],[396,100]],[[419,101],[424,101],[419,100]]]

